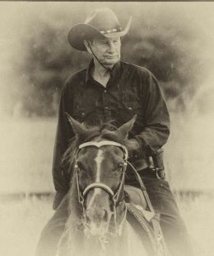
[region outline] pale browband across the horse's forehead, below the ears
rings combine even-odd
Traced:
[[[118,143],[118,142],[114,142],[114,141],[110,141],[110,140],[101,140],[99,142],[97,141],[89,141],[89,142],[85,142],[85,143],[82,143],[81,145],[79,145],[79,149],[82,149],[82,148],[86,148],[86,147],[89,147],[89,146],[95,146],[96,148],[100,148],[102,146],[116,146],[116,147],[119,147],[120,149],[123,149],[123,152],[124,152],[124,159],[127,160],[128,159],[128,150],[127,148]]]

